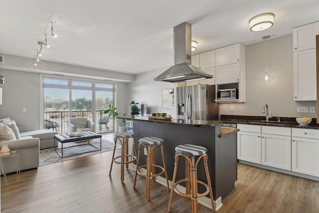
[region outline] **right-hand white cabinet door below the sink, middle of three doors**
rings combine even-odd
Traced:
[[[291,170],[291,137],[261,134],[261,156],[262,165]]]

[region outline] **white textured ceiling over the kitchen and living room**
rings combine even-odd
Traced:
[[[249,19],[275,14],[274,26],[249,30]],[[319,0],[0,0],[0,53],[137,74],[173,64],[173,27],[192,25],[192,54],[292,34],[319,21]]]

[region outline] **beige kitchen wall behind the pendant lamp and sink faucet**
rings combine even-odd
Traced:
[[[273,81],[264,83],[259,78],[264,74],[266,62]],[[316,101],[294,101],[293,35],[287,35],[246,46],[246,102],[219,104],[221,115],[262,114],[263,105],[269,106],[273,117],[316,118],[316,113],[297,113],[297,106],[316,106]],[[305,82],[307,83],[307,82]],[[234,112],[230,112],[230,106]]]

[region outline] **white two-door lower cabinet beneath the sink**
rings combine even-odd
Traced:
[[[237,129],[238,160],[291,170],[291,128],[237,124]]]

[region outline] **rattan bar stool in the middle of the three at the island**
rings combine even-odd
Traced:
[[[157,146],[159,146],[159,145],[160,145],[160,149],[161,149],[161,157],[162,157],[162,160],[163,160],[163,166],[155,164],[155,148]],[[142,166],[139,167],[142,146],[147,150],[147,162],[146,162],[146,165],[142,165]],[[145,167],[146,167],[146,174],[143,174],[141,172],[141,169],[145,168]],[[155,171],[156,167],[158,167],[158,168],[160,168],[162,170],[158,174],[156,174],[156,171]],[[138,155],[138,160],[137,160],[137,164],[136,164],[136,172],[135,172],[135,179],[134,179],[133,189],[135,189],[136,178],[137,178],[138,174],[143,176],[143,177],[146,177],[146,200],[150,201],[150,199],[151,199],[151,179],[153,181],[155,181],[155,177],[156,176],[160,176],[163,173],[165,173],[167,190],[169,190],[167,171],[166,171],[166,163],[165,163],[165,156],[164,156],[163,139],[156,138],[156,137],[141,138],[139,140],[139,155]]]

